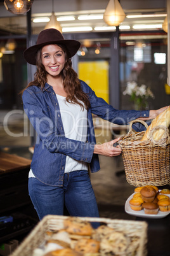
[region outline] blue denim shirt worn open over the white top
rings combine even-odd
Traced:
[[[149,111],[116,110],[100,97],[96,97],[95,92],[85,82],[80,82],[91,104],[88,110],[86,143],[65,137],[58,99],[51,85],[46,83],[44,89],[31,86],[23,92],[24,111],[37,132],[31,169],[36,178],[47,185],[62,187],[67,155],[89,163],[92,173],[100,170],[98,155],[93,153],[96,139],[92,113],[119,125],[149,115]]]

